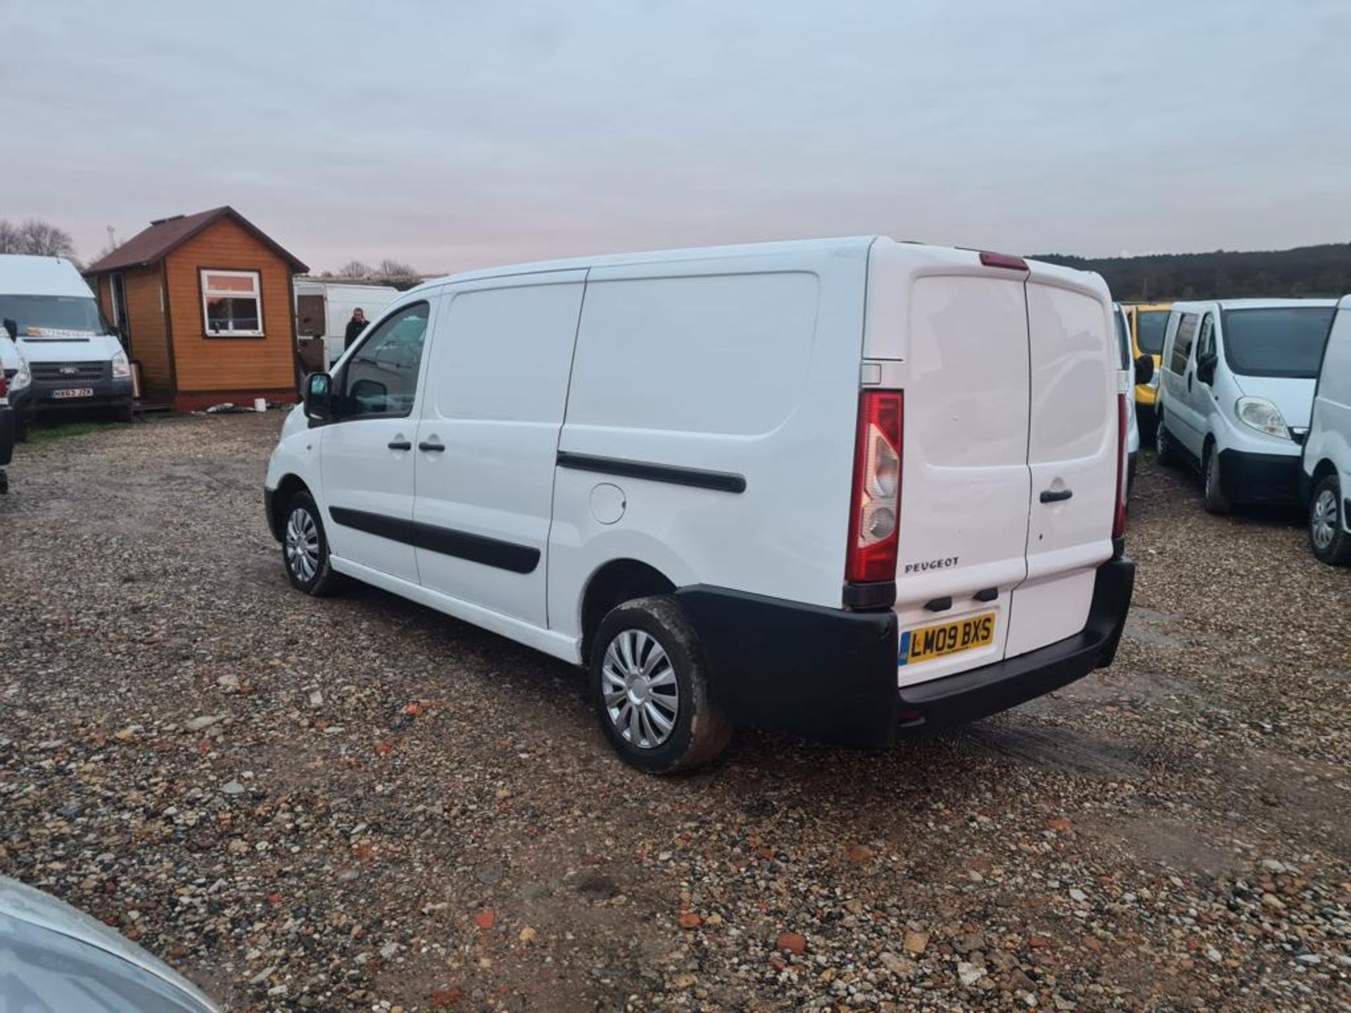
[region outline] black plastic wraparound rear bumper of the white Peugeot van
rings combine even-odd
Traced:
[[[1133,562],[1106,562],[1079,633],[902,689],[892,612],[843,612],[701,585],[676,597],[698,631],[713,700],[734,723],[885,748],[901,733],[985,717],[1111,665],[1133,585]]]

